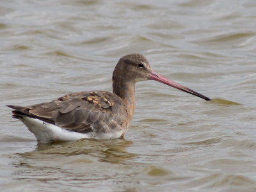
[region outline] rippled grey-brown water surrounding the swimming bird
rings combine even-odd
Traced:
[[[1,1],[1,191],[256,191],[256,2]],[[124,140],[37,143],[5,104],[111,91],[121,56],[211,102],[136,86]]]

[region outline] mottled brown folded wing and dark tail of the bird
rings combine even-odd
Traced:
[[[122,99],[110,92],[70,93],[51,102],[33,106],[9,106],[13,117],[29,116],[69,131],[113,132],[122,128],[127,118]]]

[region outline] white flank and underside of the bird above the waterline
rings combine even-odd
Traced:
[[[79,133],[75,131],[67,131],[53,124],[49,124],[36,118],[30,118],[28,116],[22,117],[22,122],[28,127],[38,141],[52,142],[52,141],[74,141],[79,139],[98,139],[98,140],[109,140],[120,138],[124,131],[108,132],[95,134],[90,133]]]

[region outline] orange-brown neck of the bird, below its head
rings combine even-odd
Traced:
[[[131,81],[113,81],[113,93],[121,97],[127,108],[127,113],[132,118],[135,107],[134,83]]]

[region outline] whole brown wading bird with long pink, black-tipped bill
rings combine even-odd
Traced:
[[[156,80],[205,100],[208,97],[181,86],[154,72],[141,54],[120,58],[113,72],[113,93],[70,93],[51,102],[33,106],[8,106],[42,142],[81,138],[122,138],[131,123],[135,106],[134,84]]]

